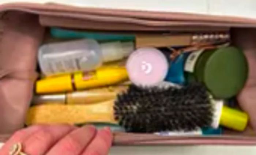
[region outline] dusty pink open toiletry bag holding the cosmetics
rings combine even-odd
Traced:
[[[9,21],[23,14],[26,20]],[[28,22],[13,29],[12,24]],[[232,42],[244,49],[250,73],[238,101],[255,126],[256,105],[248,105],[256,87],[256,19],[175,12],[151,12],[71,7],[59,4],[10,3],[0,5],[0,141],[23,128],[37,79],[36,56],[44,27],[125,32],[209,32],[231,29]],[[15,37],[13,37],[15,36]],[[256,90],[256,88],[255,88]],[[251,94],[250,94],[251,92]],[[255,102],[256,102],[256,97]],[[254,123],[255,122],[255,123]],[[256,130],[256,128],[255,128]],[[256,145],[251,127],[246,131],[225,131],[220,136],[159,136],[154,134],[114,133],[115,145],[230,144]]]

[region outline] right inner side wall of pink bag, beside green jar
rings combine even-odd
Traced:
[[[250,124],[256,132],[256,30],[234,29],[232,34],[234,45],[244,50],[249,67],[247,82],[237,100],[242,110],[249,114]]]

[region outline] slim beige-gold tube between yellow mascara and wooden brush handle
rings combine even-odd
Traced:
[[[47,103],[60,104],[91,104],[115,99],[118,93],[127,90],[128,85],[117,85],[95,88],[90,90],[68,92],[65,94],[35,95],[32,105]]]

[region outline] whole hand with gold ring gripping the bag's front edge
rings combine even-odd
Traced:
[[[109,128],[92,125],[35,125],[16,132],[0,150],[9,155],[14,144],[22,144],[27,155],[107,155],[112,144]]]

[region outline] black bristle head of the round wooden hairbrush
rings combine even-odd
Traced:
[[[115,119],[129,132],[193,131],[211,126],[213,111],[200,84],[179,89],[132,86],[114,105]]]

